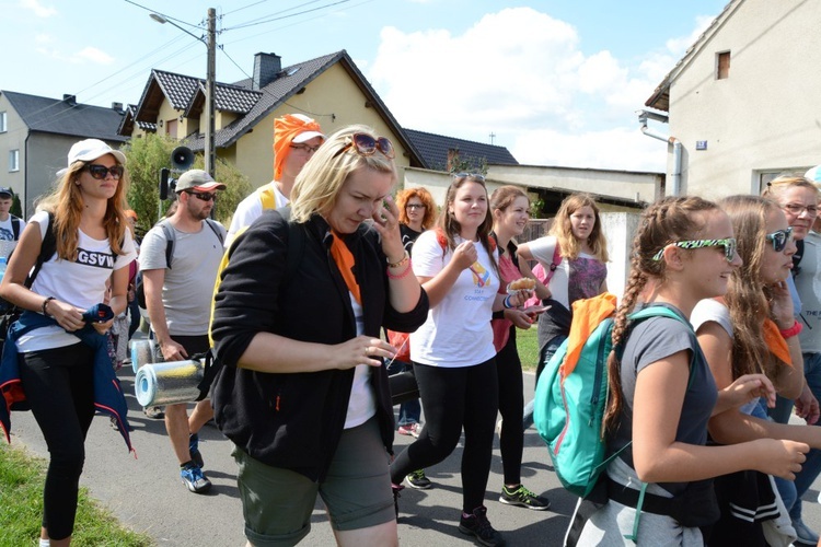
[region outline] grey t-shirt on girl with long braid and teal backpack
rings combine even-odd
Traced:
[[[667,307],[682,315],[675,307],[670,305],[667,305]],[[718,392],[713,374],[707,366],[707,360],[698,347],[698,340],[687,324],[669,317],[650,317],[633,327],[624,344],[621,363],[624,406],[622,407],[618,428],[608,443],[608,450],[611,454],[625,446],[633,439],[633,400],[638,374],[645,368],[651,366],[654,363],[682,350],[695,351],[695,359],[693,359],[690,386],[684,394],[675,440],[687,444],[704,445],[707,443],[707,422],[718,399]],[[634,466],[631,449],[625,450],[618,457],[631,467]],[[675,494],[682,491],[686,484],[664,484],[662,486],[666,490]]]

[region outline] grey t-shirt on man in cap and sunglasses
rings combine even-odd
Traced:
[[[224,238],[226,229],[218,224]],[[174,256],[171,269],[165,261],[165,235],[161,226],[146,234],[140,246],[140,271],[165,269],[162,302],[165,323],[171,336],[201,336],[208,334],[211,317],[213,283],[222,260],[222,242],[203,221],[196,233],[174,229]]]

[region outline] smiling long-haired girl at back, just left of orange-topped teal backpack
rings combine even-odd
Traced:
[[[535,382],[544,366],[570,334],[573,303],[608,290],[608,242],[601,226],[599,206],[587,194],[574,194],[562,201],[550,235],[519,245],[519,257],[537,260],[548,276],[544,284],[551,307],[539,317],[539,364]],[[541,279],[536,275],[537,279]],[[524,408],[522,428],[533,423],[533,401]]]

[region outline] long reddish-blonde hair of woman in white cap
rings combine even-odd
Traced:
[[[105,155],[105,154],[104,154]],[[102,158],[102,156],[101,156]],[[115,159],[114,154],[112,158]],[[80,173],[91,163],[77,161],[69,166],[66,173],[56,182],[56,188],[37,203],[38,210],[48,211],[54,214],[54,234],[57,240],[57,256],[63,260],[77,259],[77,245],[79,240],[80,220],[83,213],[83,198],[78,185]],[[120,165],[119,162],[117,165]],[[117,183],[114,196],[108,198],[103,226],[108,237],[112,253],[124,255],[123,241],[128,230],[126,220],[126,196],[128,195],[128,171],[123,172]]]

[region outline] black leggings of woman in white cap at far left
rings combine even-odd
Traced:
[[[85,433],[94,418],[94,350],[85,344],[20,354],[20,379],[50,461],[43,489],[43,527],[51,539],[71,535]]]

